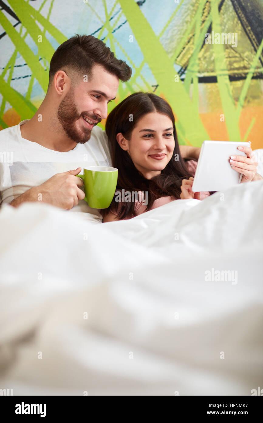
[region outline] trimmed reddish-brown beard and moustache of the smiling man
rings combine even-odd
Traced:
[[[87,113],[83,113],[83,115],[87,116],[88,118],[95,120],[98,119],[98,116],[89,116]],[[75,143],[84,144],[87,143],[91,136],[92,129],[88,128],[76,128],[76,121],[81,118],[82,115],[79,115],[78,110],[76,108],[76,103],[74,102],[74,92],[73,89],[70,89],[68,94],[66,94],[65,98],[60,102],[60,105],[57,110],[57,118],[62,128],[64,129],[65,133],[68,137],[73,140]],[[94,124],[94,126],[97,124]],[[94,127],[93,126],[93,127]]]

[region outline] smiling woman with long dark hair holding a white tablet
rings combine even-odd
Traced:
[[[182,159],[174,115],[164,99],[153,93],[131,94],[108,115],[106,134],[119,174],[111,205],[101,211],[103,222],[130,219],[179,198],[210,195],[191,189],[197,162]],[[253,172],[254,167],[248,180]]]

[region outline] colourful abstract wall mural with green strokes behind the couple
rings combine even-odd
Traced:
[[[151,91],[171,104],[181,144],[263,148],[263,0],[0,0],[0,9],[0,129],[33,116],[55,49],[79,33],[133,68],[109,112]]]

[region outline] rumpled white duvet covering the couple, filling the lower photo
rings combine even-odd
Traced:
[[[93,224],[0,209],[0,389],[251,395],[263,388],[263,181]]]

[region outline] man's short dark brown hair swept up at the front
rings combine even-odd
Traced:
[[[92,35],[78,35],[69,38],[54,52],[49,66],[49,86],[57,71],[70,69],[72,74],[81,77],[92,77],[92,67],[102,65],[108,72],[119,80],[126,82],[130,79],[132,69],[123,60],[118,60],[111,49],[103,41]],[[73,85],[77,81],[72,81]]]

